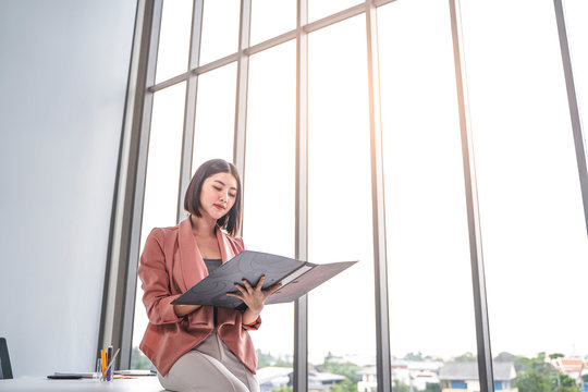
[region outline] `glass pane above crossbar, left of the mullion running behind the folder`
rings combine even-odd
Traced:
[[[252,45],[296,28],[295,0],[253,0]]]

